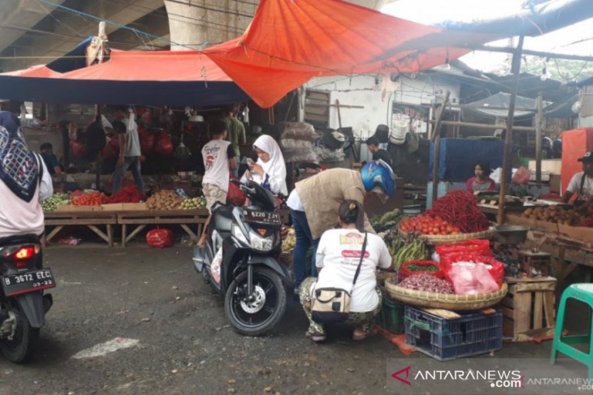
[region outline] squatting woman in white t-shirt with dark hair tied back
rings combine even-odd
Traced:
[[[316,287],[350,290],[360,262],[364,234],[364,208],[355,200],[345,200],[339,208],[340,229],[327,230],[317,248],[318,278],[306,278],[300,289],[301,304],[310,325],[305,335],[315,342],[326,339],[323,325],[311,318],[311,298]],[[381,237],[368,233],[365,258],[350,294],[350,315],[346,323],[355,327],[353,340],[372,334],[375,315],[381,310],[381,290],[377,287],[377,268],[391,268],[391,256]]]

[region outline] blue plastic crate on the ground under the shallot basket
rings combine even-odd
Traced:
[[[459,313],[448,320],[406,306],[406,343],[439,361],[484,354],[502,348],[502,313]]]

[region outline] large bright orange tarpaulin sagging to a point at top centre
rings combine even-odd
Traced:
[[[418,72],[492,34],[443,31],[342,0],[262,0],[242,37],[204,50],[257,104],[315,76]]]

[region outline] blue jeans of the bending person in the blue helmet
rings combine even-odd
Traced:
[[[313,245],[313,259],[311,259],[311,275],[317,277],[317,268],[315,267],[315,255],[317,255],[317,246],[319,239],[313,240],[311,229],[307,222],[307,216],[304,211],[295,211],[291,209],[292,226],[295,228],[295,237],[297,242],[293,252],[292,270],[295,276],[294,286],[298,288],[301,282],[307,278],[307,252]]]

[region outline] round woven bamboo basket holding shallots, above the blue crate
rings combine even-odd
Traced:
[[[418,307],[432,307],[433,309],[455,311],[480,310],[493,306],[505,297],[508,286],[505,282],[498,292],[491,294],[457,295],[409,290],[393,284],[392,281],[385,281],[385,290],[391,298],[402,303]]]

